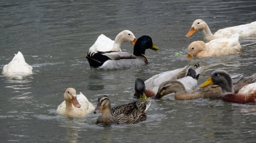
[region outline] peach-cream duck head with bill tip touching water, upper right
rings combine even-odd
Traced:
[[[187,58],[195,57],[199,52],[204,51],[206,45],[203,41],[194,41],[189,44]]]

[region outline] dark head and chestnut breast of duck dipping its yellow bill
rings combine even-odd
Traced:
[[[155,95],[152,90],[146,88],[144,81],[139,78],[135,81],[134,90],[134,98],[140,98],[142,100],[146,100],[148,97]]]

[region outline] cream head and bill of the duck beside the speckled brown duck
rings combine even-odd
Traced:
[[[74,105],[74,107],[81,107],[81,105],[76,99],[76,90],[74,88],[67,88],[67,90],[64,93],[64,98],[66,103],[71,102]]]

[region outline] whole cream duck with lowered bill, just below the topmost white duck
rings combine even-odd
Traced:
[[[214,39],[208,43],[194,41],[188,47],[188,58],[225,56],[238,53],[242,49],[238,39],[239,34],[234,34],[233,37]]]

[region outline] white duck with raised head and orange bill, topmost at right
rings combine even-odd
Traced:
[[[192,36],[195,31],[202,31],[204,40],[210,41],[222,37],[231,37],[233,34],[239,33],[239,37],[256,36],[256,21],[244,25],[220,29],[213,35],[204,20],[195,20],[186,34],[186,37]]]

